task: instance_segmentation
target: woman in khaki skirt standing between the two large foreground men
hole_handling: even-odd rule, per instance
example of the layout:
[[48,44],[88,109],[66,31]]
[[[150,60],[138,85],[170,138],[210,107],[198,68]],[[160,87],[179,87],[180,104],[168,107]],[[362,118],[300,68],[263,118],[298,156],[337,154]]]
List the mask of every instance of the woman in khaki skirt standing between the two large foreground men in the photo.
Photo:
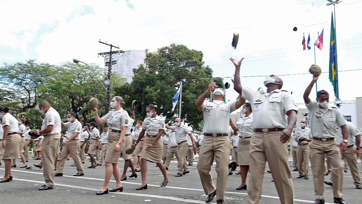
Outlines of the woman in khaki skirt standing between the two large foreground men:
[[247,189],[247,174],[249,170],[249,150],[250,139],[253,136],[253,114],[250,103],[244,103],[241,113],[245,114],[244,117],[236,123],[230,123],[234,131],[239,131],[239,143],[237,144],[237,163],[240,165],[241,171],[241,185],[236,190]]

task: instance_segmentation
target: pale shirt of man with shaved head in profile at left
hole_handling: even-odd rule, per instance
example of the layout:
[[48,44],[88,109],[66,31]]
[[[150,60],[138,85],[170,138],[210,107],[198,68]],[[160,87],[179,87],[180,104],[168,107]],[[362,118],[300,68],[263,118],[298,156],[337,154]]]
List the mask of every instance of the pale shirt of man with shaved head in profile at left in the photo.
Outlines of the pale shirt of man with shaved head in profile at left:
[[[41,130],[44,130],[46,127],[50,125],[53,126],[53,130],[47,133],[46,135],[54,135],[54,134],[58,135],[58,133],[62,131],[62,122],[60,121],[59,113],[52,107],[50,107],[44,115],[44,120],[42,122]],[[55,136],[54,139],[59,139],[59,135]]]

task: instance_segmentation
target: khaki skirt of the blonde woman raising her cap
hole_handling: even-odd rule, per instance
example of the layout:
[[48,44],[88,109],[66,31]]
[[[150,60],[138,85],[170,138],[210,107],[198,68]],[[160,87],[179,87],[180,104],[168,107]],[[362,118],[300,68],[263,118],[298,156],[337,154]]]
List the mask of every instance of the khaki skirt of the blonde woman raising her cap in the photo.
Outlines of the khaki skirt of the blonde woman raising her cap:
[[114,152],[113,148],[118,143],[119,140],[119,133],[118,132],[109,132],[108,133],[108,142],[107,142],[107,154],[106,158],[104,159],[106,162],[118,164],[119,155],[123,151],[126,146],[126,136],[122,140],[122,144],[119,147],[117,152]]

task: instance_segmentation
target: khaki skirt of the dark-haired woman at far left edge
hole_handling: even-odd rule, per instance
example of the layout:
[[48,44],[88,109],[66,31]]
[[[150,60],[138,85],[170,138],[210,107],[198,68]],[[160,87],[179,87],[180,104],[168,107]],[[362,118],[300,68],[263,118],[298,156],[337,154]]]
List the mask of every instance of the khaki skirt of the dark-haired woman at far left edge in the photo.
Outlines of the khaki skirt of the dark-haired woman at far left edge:
[[3,159],[20,159],[20,152],[19,152],[20,143],[21,143],[20,135],[13,134],[6,136],[6,149],[4,149],[3,152]]

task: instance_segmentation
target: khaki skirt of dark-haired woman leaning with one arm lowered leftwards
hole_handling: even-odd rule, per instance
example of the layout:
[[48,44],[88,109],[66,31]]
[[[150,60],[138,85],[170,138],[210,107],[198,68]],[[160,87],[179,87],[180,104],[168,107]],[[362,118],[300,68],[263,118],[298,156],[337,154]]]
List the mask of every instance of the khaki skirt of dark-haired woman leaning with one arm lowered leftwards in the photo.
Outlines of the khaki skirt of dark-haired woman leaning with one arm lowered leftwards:
[[144,144],[142,149],[141,158],[146,159],[147,161],[150,162],[161,163],[162,152],[163,152],[163,141],[161,137],[155,142],[155,144],[153,144],[150,151],[146,151],[147,147],[151,144],[151,142],[154,139],[155,138],[147,137],[146,143]]

